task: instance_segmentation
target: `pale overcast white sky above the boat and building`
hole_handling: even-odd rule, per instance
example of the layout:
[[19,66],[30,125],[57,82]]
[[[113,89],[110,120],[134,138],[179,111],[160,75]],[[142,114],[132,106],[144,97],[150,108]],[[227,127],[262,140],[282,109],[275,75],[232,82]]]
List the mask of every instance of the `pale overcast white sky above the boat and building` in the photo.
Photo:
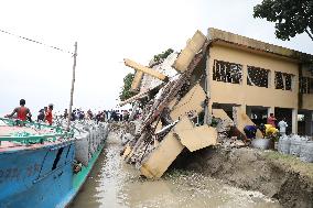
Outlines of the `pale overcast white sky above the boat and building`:
[[[313,54],[306,34],[274,36],[274,24],[253,19],[261,0],[10,0],[0,2],[0,30],[64,51],[78,43],[74,108],[112,109],[131,58],[148,65],[154,54],[182,50],[196,30],[216,28]],[[0,33],[0,117],[24,98],[33,113],[54,103],[68,108],[72,54]]]

